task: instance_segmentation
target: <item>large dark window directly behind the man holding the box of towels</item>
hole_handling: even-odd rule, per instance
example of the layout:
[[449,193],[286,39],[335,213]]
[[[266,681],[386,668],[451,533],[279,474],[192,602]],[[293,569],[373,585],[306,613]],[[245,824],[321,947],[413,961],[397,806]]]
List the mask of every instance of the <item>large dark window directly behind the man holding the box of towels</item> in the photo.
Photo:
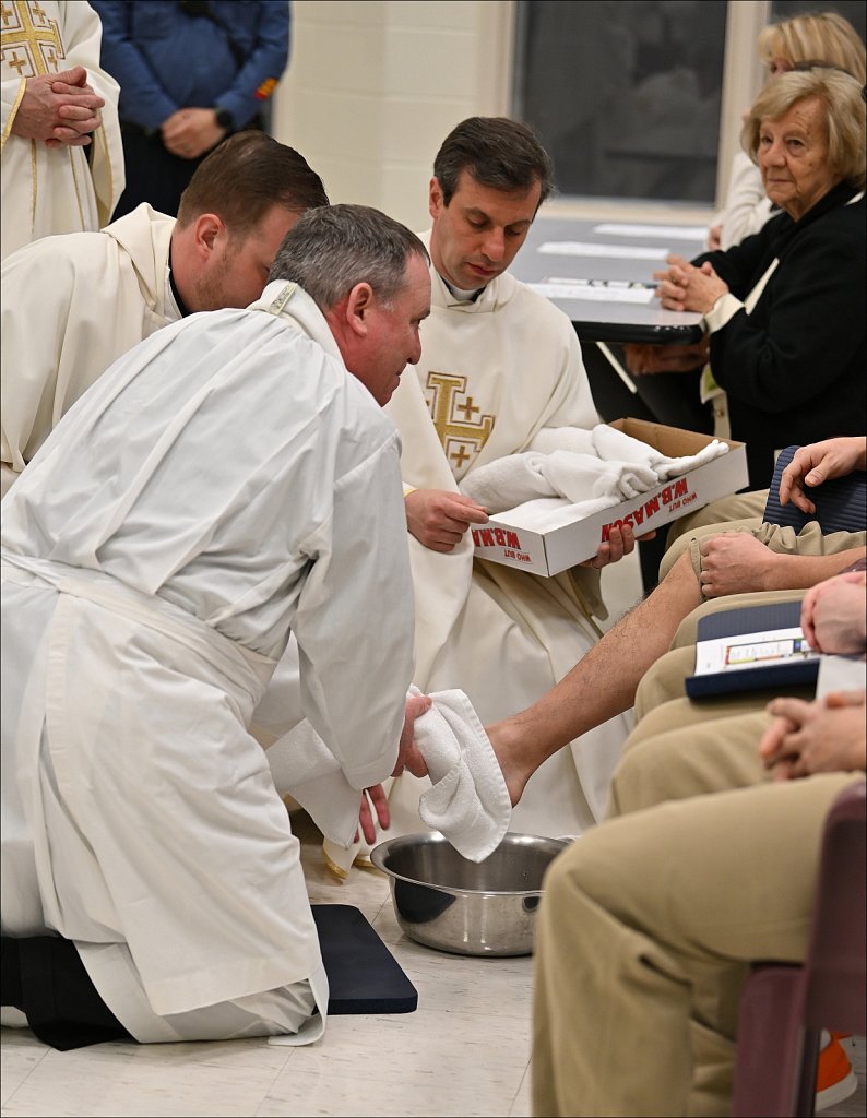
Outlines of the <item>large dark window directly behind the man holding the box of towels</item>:
[[524,0],[513,112],[562,195],[711,205],[725,0]]

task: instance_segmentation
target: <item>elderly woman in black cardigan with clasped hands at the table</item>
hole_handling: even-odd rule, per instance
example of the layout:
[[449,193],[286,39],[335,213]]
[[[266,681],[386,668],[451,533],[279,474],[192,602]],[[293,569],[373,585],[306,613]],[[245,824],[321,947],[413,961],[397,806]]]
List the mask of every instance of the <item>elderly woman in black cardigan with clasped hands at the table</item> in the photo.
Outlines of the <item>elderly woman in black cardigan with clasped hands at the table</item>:
[[774,452],[865,430],[865,100],[848,74],[784,74],[756,98],[743,145],[783,212],[727,252],[658,272],[665,307],[704,315],[706,395],[723,389],[752,487]]

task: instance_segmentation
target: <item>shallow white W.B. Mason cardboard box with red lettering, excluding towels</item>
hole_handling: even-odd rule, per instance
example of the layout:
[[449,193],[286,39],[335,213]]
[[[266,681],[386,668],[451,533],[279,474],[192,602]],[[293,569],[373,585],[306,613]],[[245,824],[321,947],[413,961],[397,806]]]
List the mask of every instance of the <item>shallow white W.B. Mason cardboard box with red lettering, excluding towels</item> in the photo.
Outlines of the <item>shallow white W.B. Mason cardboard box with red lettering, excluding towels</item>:
[[[647,423],[643,419],[618,419],[610,425],[633,438],[648,443],[668,457],[697,454],[710,435],[699,435],[678,427]],[[657,489],[623,501],[593,517],[563,524],[548,532],[533,532],[509,524],[507,514],[491,517],[487,524],[472,529],[475,555],[492,562],[503,562],[535,575],[557,575],[595,556],[613,524],[632,525],[637,536],[659,531],[672,520],[704,508],[717,498],[728,496],[747,484],[746,448],[743,443],[725,439],[731,447],[713,462],[673,477]]]

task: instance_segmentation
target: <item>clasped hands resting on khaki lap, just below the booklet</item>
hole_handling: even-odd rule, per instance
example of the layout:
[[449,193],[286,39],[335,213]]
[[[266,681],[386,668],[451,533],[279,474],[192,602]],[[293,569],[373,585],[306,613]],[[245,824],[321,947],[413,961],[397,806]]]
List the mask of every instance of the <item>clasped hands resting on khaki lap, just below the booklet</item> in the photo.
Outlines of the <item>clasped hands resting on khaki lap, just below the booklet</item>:
[[767,711],[776,721],[758,745],[765,767],[778,780],[864,769],[864,691],[838,691],[814,702],[774,699]]

